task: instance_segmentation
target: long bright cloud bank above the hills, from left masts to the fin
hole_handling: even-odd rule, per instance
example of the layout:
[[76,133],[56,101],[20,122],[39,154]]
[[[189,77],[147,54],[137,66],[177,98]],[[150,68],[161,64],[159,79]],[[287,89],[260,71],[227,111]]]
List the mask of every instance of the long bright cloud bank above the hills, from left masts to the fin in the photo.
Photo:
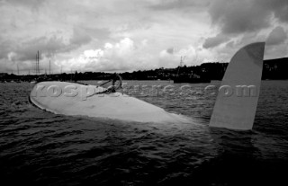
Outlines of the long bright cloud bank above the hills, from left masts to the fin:
[[130,38],[124,38],[116,43],[105,43],[99,49],[86,49],[76,58],[64,58],[57,60],[58,68],[63,71],[110,71],[124,72],[131,70],[152,69],[157,67],[176,67],[180,64],[180,58],[185,57],[184,65],[200,65],[204,60],[211,61],[211,55],[207,49],[196,48],[192,45],[181,49],[168,48],[157,54],[148,52],[148,41],[138,42]]

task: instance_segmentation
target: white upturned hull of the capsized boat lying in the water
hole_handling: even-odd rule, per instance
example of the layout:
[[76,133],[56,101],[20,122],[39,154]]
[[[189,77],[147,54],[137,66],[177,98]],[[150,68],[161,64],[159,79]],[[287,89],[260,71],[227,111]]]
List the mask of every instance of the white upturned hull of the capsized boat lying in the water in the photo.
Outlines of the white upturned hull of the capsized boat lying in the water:
[[30,94],[42,110],[71,116],[88,116],[138,122],[191,122],[184,116],[122,93],[102,93],[103,87],[67,82],[41,82]]

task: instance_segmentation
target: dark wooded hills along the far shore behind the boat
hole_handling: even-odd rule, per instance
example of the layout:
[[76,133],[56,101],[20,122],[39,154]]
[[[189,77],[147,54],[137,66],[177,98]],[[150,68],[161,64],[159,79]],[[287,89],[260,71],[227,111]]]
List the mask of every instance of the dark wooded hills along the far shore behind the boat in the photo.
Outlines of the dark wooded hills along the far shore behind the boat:
[[[177,75],[198,75],[211,80],[221,80],[228,63],[203,63],[200,66],[178,66],[175,68],[157,68],[120,73],[124,80],[173,80]],[[288,79],[288,58],[277,58],[264,61],[262,79]],[[4,81],[78,81],[78,80],[108,80],[112,73],[85,72],[62,73],[52,75],[14,75],[1,73],[0,80]]]

